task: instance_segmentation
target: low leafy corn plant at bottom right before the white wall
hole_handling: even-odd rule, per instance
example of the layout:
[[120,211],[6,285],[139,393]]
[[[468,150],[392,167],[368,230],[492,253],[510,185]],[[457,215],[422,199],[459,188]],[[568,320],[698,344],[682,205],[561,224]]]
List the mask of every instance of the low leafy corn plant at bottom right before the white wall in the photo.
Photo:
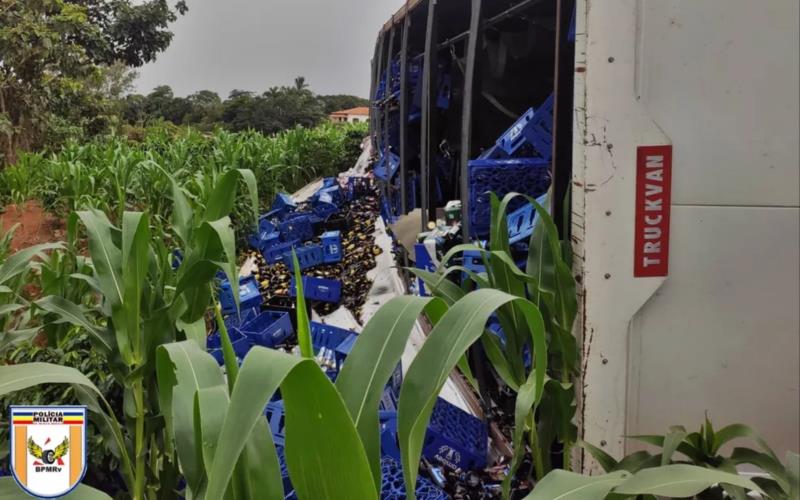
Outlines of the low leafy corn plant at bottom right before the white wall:
[[[796,453],[789,453],[786,463],[781,463],[767,442],[747,425],[731,424],[715,431],[711,421],[706,418],[698,432],[687,432],[683,426],[672,426],[664,435],[630,436],[630,438],[656,446],[661,452],[653,455],[645,450],[637,451],[617,461],[589,443],[582,445],[607,473],[616,471],[636,473],[653,467],[688,464],[736,474],[737,467],[748,465],[758,467],[763,474],[762,477],[754,477],[753,482],[761,487],[764,497],[772,500],[789,500],[800,495],[800,483],[798,483],[800,457]],[[742,439],[754,441],[759,449],[738,446],[733,448],[729,456],[720,453],[723,446]],[[700,494],[703,498],[722,498],[723,492],[735,500],[747,498],[741,485],[724,481],[709,485],[695,494]]]

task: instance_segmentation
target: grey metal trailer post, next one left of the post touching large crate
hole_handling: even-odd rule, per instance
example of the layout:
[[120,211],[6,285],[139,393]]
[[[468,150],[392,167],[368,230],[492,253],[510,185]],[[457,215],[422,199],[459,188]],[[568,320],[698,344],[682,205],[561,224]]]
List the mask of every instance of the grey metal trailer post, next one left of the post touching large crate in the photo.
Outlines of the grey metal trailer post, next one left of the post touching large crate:
[[[422,71],[422,140],[420,170],[421,170],[421,191],[422,191],[422,231],[427,229],[428,220],[431,218],[431,171],[432,160],[435,161],[435,148],[431,146],[433,132],[435,130],[436,114],[436,84],[438,80],[438,44],[437,19],[436,19],[437,0],[428,0],[428,19],[425,28],[425,64]],[[433,214],[435,217],[436,214]]]

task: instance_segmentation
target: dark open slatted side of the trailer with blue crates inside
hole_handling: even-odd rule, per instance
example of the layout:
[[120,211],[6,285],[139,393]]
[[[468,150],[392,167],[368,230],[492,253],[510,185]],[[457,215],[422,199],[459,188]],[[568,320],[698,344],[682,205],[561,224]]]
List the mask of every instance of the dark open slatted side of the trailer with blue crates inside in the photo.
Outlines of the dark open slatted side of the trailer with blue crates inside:
[[461,200],[464,238],[484,239],[485,191],[539,196],[552,183],[550,208],[563,219],[574,5],[409,0],[383,26],[371,134],[385,216],[421,209],[424,230],[437,209]]

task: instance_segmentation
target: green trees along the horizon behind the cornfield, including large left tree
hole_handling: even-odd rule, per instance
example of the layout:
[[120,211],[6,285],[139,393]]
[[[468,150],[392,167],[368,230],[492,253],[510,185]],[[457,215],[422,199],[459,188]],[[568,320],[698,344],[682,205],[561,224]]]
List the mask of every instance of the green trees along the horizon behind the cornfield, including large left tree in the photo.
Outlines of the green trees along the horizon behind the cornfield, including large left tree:
[[263,93],[209,90],[177,97],[168,86],[132,94],[135,69],[170,44],[184,0],[0,0],[0,167],[20,151],[55,149],[154,121],[274,133],[365,105],[317,96],[305,79]]

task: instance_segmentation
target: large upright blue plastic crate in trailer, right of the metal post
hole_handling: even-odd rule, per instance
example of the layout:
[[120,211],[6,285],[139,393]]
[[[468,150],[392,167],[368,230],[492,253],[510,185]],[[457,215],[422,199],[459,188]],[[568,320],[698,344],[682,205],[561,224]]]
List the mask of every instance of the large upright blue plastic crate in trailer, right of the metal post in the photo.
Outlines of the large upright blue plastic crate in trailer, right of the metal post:
[[[494,192],[501,199],[512,192],[538,197],[550,187],[550,164],[541,158],[472,160],[468,169],[470,227],[477,237],[489,234],[489,192]],[[523,198],[514,200],[509,210],[516,210],[525,203]]]

